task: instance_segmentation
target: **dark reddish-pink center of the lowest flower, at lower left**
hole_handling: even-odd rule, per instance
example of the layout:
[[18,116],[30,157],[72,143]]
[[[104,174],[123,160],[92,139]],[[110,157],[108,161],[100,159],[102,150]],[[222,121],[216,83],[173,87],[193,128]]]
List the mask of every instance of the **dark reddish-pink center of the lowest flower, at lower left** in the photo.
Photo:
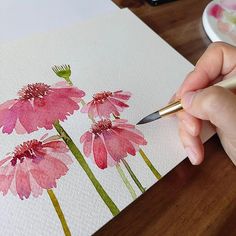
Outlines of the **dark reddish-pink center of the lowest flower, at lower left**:
[[11,160],[12,166],[15,166],[18,160],[20,161],[20,163],[22,163],[25,158],[35,159],[36,158],[35,151],[41,145],[42,145],[42,142],[36,139],[33,139],[17,146],[15,148],[14,155]]

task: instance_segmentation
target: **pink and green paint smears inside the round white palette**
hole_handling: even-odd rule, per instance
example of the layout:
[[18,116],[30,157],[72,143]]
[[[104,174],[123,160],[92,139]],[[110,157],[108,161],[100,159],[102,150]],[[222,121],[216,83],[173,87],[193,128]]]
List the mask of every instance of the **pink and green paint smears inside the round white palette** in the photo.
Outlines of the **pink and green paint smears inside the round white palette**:
[[236,2],[235,0],[220,0],[213,3],[208,15],[216,20],[217,28],[236,43]]

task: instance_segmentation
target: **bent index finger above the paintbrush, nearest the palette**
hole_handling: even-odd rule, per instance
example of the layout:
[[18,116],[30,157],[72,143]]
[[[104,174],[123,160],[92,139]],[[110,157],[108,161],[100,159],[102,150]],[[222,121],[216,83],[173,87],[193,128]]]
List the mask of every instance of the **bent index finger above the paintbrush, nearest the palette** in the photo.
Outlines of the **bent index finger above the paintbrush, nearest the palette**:
[[236,48],[226,43],[212,43],[202,55],[178,92],[177,98],[188,91],[203,89],[212,81],[236,72]]

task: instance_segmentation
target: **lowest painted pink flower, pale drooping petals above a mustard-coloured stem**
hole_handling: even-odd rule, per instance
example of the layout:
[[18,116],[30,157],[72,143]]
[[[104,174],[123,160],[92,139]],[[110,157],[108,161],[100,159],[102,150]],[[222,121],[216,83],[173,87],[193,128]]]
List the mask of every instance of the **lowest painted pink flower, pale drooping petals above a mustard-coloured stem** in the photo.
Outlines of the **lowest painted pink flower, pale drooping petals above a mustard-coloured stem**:
[[17,146],[0,161],[0,192],[10,190],[20,199],[30,194],[38,197],[43,189],[56,187],[56,180],[65,175],[72,163],[62,141],[31,140]]

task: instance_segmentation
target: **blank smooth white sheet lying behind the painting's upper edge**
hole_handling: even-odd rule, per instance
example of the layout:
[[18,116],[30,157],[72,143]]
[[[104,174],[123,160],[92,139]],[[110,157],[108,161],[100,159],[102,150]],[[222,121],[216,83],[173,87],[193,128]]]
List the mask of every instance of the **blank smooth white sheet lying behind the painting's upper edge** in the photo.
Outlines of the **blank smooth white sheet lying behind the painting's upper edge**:
[[0,43],[118,11],[111,0],[0,0]]

